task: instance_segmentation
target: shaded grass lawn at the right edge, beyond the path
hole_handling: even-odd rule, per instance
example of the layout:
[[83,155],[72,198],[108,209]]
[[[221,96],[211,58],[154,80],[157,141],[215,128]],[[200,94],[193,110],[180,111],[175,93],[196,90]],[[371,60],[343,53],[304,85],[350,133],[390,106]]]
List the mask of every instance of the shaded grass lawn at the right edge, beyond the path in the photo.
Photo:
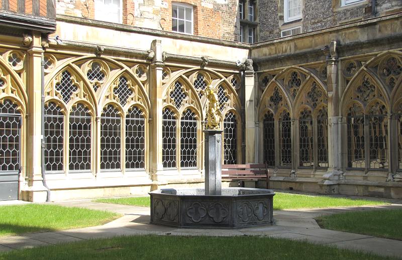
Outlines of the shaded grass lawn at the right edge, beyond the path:
[[402,240],[402,209],[353,211],[316,218],[323,228]]

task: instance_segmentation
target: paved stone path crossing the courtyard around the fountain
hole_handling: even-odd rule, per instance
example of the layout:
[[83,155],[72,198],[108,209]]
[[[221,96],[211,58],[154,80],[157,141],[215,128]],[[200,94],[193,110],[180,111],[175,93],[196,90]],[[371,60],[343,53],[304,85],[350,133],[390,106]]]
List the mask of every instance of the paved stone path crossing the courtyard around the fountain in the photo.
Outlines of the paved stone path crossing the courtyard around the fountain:
[[0,237],[0,251],[135,234],[208,236],[264,235],[295,240],[308,240],[309,242],[318,244],[334,244],[343,248],[360,249],[380,255],[402,257],[402,241],[322,229],[314,220],[314,217],[320,215],[350,210],[402,208],[400,204],[332,209],[280,210],[274,211],[276,225],[243,229],[190,229],[151,225],[149,224],[150,216],[149,208],[147,207],[95,203],[86,200],[58,202],[56,204],[109,210],[124,214],[124,216],[102,226]]

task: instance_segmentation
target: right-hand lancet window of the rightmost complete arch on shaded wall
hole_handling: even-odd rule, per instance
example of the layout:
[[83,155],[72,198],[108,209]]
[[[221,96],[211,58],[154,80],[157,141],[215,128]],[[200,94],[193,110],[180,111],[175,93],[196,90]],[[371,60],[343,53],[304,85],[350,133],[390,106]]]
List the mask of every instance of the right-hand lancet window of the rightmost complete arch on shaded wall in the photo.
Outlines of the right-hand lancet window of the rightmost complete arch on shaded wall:
[[368,115],[371,169],[388,169],[388,117],[385,105],[375,104]]

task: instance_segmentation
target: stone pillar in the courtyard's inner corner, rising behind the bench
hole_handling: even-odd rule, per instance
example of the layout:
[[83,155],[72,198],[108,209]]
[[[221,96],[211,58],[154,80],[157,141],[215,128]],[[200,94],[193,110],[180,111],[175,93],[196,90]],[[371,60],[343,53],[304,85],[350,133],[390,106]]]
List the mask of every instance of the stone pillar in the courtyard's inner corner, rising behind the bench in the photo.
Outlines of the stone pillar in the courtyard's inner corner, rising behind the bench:
[[256,141],[255,127],[255,91],[254,91],[254,69],[253,60],[247,59],[244,62],[244,120],[245,120],[245,163],[255,163],[258,157],[255,156]]

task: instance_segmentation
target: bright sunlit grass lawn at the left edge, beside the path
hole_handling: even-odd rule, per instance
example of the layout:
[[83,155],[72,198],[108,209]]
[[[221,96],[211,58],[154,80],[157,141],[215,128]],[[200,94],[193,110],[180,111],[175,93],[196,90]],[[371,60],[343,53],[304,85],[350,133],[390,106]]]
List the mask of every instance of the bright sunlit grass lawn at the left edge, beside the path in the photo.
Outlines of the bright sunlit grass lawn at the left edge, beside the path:
[[0,236],[102,225],[113,212],[49,204],[0,206]]

